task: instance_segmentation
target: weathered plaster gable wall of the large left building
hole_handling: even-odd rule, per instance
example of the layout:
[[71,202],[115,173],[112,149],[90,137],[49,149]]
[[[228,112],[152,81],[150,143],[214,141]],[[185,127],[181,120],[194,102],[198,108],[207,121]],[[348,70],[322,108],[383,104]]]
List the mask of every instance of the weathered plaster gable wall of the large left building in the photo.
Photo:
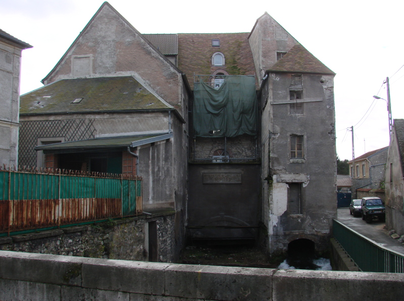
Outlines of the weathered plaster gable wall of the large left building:
[[90,55],[92,70],[85,77],[133,75],[182,113],[181,74],[108,5],[81,34],[44,84],[76,78],[72,57]]

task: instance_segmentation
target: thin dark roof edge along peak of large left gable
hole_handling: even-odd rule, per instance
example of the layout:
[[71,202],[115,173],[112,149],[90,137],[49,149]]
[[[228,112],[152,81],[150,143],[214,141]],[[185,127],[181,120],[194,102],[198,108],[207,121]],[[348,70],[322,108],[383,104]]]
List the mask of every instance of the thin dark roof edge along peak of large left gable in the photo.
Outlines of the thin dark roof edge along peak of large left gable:
[[143,39],[151,48],[153,48],[164,60],[169,63],[173,68],[176,69],[177,72],[181,73],[181,71],[173,64],[170,62],[169,59],[167,59],[160,51],[157,49],[153,43],[149,42],[146,38],[143,37],[143,35],[133,27],[132,24],[130,24],[116,9],[114,9],[108,2],[104,2],[102,6],[97,10],[97,12],[92,16],[91,20],[88,21],[86,26],[83,28],[82,31],[80,31],[80,34],[76,37],[76,39],[73,41],[73,43],[70,45],[70,47],[67,49],[66,53],[62,56],[62,58],[59,60],[59,62],[55,65],[55,67],[49,72],[42,80],[41,82],[44,83],[45,80],[47,80],[58,68],[58,66],[65,60],[66,57],[68,57],[68,54],[70,53],[71,49],[74,47],[76,42],[80,39],[80,37],[86,32],[87,28],[91,25],[91,23],[94,21],[94,19],[98,16],[98,14],[104,9],[104,7],[108,6],[126,25],[128,25],[141,39]]

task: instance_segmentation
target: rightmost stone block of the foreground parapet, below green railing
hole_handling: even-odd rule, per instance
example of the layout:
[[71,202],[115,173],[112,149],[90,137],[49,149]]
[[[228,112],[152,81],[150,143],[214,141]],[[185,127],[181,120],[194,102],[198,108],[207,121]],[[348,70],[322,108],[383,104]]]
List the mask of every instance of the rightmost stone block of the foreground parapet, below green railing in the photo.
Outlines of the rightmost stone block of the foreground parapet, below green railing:
[[278,270],[273,300],[398,300],[404,296],[404,274]]

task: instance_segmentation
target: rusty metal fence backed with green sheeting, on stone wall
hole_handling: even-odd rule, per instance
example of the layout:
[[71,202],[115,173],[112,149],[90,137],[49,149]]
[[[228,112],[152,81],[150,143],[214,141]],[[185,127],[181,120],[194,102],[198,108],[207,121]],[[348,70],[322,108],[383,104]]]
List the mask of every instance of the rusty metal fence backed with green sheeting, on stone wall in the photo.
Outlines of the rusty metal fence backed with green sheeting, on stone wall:
[[134,216],[142,179],[65,170],[0,170],[0,233]]

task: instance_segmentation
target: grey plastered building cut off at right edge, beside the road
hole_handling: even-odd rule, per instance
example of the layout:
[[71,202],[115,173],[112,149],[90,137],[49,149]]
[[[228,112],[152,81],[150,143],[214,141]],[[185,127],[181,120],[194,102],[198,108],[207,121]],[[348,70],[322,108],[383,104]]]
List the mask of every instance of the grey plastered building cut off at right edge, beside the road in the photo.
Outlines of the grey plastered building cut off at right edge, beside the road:
[[394,119],[386,161],[386,227],[404,235],[404,119]]

